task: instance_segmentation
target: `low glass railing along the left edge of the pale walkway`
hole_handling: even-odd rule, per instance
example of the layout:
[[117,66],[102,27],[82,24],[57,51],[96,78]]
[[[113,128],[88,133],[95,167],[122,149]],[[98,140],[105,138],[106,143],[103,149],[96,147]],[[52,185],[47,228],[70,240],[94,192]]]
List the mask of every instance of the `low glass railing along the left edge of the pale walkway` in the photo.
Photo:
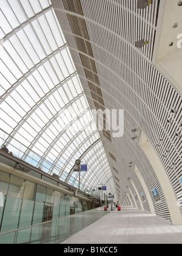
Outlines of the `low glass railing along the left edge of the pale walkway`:
[[0,244],[58,244],[109,213],[111,208],[95,208],[75,215],[43,222],[0,234]]

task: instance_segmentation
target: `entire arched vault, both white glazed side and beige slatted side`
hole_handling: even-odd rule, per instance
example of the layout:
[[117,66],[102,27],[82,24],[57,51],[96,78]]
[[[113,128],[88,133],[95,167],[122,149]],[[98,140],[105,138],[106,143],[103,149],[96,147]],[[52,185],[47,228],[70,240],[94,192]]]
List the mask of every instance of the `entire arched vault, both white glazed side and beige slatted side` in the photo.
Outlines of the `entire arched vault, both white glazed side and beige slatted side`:
[[[1,142],[15,151],[19,141],[24,160],[38,154],[38,166],[59,166],[46,171],[72,185],[81,158],[90,167],[87,187],[107,183],[123,204],[173,221],[172,199],[182,197],[182,50],[174,27],[182,7],[178,0],[137,4],[1,1]],[[117,124],[123,110],[122,135],[113,136],[107,113],[98,131],[92,110],[116,110]]]

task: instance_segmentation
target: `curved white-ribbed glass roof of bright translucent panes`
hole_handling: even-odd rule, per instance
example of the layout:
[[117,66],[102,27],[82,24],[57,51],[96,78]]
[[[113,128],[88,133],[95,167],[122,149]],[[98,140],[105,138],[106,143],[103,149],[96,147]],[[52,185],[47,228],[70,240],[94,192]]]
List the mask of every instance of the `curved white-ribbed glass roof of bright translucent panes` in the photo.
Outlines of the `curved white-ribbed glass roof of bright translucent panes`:
[[[72,168],[81,158],[88,165],[81,182],[87,187],[107,183],[115,193],[103,144],[51,2],[0,0],[0,7],[0,128],[8,134],[2,143],[19,141],[23,160],[35,152],[56,166],[58,175],[71,173],[67,182],[75,187],[78,173]],[[41,164],[39,160],[37,166]],[[47,172],[52,174],[52,168]]]

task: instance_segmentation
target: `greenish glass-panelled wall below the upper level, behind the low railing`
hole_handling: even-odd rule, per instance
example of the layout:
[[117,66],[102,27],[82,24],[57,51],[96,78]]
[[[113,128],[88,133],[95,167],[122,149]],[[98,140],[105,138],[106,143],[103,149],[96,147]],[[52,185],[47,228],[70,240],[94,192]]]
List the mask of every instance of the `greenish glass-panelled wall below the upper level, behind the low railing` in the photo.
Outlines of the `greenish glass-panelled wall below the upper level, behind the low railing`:
[[0,171],[0,233],[92,209],[92,203]]

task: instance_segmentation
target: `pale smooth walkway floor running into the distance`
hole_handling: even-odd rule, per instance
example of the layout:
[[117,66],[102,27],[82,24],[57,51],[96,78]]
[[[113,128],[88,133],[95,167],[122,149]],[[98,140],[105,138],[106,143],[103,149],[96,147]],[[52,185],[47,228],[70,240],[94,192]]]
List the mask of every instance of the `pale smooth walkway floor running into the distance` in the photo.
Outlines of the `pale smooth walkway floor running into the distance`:
[[133,207],[116,209],[62,244],[182,244],[182,226]]

